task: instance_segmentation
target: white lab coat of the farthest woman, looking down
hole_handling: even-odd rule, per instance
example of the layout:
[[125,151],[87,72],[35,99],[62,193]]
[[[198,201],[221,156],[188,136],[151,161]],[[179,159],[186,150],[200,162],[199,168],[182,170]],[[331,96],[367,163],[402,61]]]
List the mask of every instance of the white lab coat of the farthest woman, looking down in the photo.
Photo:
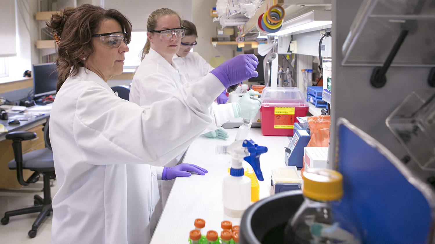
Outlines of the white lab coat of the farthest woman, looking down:
[[189,82],[196,82],[202,79],[202,77],[214,69],[201,55],[195,52],[187,53],[185,57],[179,57],[175,54],[172,62],[177,64],[181,73]]

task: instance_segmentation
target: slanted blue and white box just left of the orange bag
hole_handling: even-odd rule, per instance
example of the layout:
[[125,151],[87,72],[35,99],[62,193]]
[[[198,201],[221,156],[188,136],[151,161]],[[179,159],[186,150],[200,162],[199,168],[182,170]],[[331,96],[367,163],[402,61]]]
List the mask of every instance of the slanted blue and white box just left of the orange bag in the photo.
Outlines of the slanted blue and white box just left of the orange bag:
[[297,130],[285,148],[284,162],[286,165],[302,168],[304,166],[304,148],[310,141],[310,134],[306,130]]

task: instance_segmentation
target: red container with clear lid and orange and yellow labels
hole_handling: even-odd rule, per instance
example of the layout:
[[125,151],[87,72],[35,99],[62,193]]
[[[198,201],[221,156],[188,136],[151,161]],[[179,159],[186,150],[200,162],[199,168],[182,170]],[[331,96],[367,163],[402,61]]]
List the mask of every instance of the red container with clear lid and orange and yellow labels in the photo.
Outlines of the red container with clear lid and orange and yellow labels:
[[261,99],[263,135],[293,135],[295,117],[305,116],[308,112],[308,102],[296,87],[265,87]]

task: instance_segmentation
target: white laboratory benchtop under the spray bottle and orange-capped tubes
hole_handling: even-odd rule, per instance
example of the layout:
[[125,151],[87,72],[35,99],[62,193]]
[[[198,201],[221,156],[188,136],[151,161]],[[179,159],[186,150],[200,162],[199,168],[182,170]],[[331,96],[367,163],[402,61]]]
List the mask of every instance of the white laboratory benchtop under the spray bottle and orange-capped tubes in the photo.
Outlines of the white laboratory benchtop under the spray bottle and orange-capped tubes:
[[[234,142],[238,129],[227,129],[230,138],[227,140],[200,136],[187,149],[184,163],[199,165],[208,170],[204,176],[192,175],[188,178],[175,178],[171,193],[168,196],[160,221],[151,239],[151,244],[185,243],[189,232],[193,230],[194,220],[205,220],[203,234],[214,230],[221,235],[221,221],[229,220],[239,225],[240,218],[224,216],[222,201],[222,182],[231,167],[230,155],[216,155],[216,145],[229,145]],[[288,146],[291,137],[263,136],[261,129],[251,128],[249,138],[261,146],[267,146],[268,152],[260,156],[264,181],[260,185],[260,199],[273,194],[270,172],[273,166],[285,166],[284,147]],[[248,163],[244,165],[248,167]]]

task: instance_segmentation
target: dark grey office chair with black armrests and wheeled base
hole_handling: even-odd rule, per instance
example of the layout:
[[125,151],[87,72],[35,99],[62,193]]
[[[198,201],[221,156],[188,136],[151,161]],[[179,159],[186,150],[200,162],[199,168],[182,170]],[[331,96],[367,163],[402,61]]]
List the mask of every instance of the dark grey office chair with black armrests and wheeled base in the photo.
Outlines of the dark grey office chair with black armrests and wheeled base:
[[[28,233],[30,238],[36,236],[39,226],[53,211],[51,208],[50,179],[56,177],[54,173],[53,152],[51,151],[50,138],[48,135],[48,120],[44,127],[44,141],[46,147],[22,154],[21,142],[31,140],[35,137],[35,132],[26,131],[10,132],[6,135],[6,139],[12,140],[13,154],[15,156],[15,159],[11,160],[7,164],[7,167],[12,170],[17,170],[17,178],[20,185],[35,183],[39,180],[40,174],[42,174],[44,198],[41,198],[39,195],[34,195],[33,207],[7,211],[1,219],[1,224],[5,225],[9,222],[9,217],[11,216],[40,212],[33,222],[32,229]],[[23,169],[34,171],[26,181],[23,179]]]

